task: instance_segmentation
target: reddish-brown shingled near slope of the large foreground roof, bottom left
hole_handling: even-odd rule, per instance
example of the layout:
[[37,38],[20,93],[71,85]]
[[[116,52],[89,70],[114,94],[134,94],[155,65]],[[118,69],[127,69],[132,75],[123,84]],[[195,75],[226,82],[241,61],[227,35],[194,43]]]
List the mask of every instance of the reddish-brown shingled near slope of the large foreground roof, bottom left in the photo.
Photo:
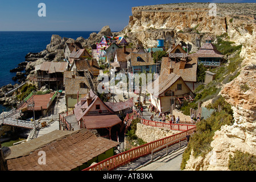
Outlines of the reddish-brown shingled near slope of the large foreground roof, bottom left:
[[[56,131],[52,131],[52,133]],[[29,144],[29,142],[24,144]],[[25,156],[8,159],[7,165],[10,171],[70,171],[118,144],[109,139],[96,137],[86,129],[70,131],[69,134],[53,140]],[[46,164],[38,163],[39,151],[46,152]]]

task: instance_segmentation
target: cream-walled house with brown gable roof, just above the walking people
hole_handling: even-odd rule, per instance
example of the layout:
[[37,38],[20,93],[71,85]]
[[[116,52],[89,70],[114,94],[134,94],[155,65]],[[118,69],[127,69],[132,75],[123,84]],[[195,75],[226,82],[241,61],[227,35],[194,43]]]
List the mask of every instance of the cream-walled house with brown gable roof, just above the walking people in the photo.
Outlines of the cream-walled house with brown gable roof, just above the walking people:
[[185,84],[183,78],[172,72],[171,68],[164,68],[160,76],[153,83],[159,84],[158,92],[151,89],[152,82],[147,85],[147,92],[150,93],[150,109],[153,111],[168,112],[171,105],[180,105],[184,100],[192,101],[195,95],[192,90]]

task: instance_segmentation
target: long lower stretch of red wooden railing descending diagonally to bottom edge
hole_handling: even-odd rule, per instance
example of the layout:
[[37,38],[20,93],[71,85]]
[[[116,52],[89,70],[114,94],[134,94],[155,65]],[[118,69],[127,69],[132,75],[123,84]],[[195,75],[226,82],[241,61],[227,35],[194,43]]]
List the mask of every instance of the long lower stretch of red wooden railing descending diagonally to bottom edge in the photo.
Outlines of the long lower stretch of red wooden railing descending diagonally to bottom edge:
[[[108,159],[102,160],[101,162],[94,164],[93,166],[90,166],[88,168],[85,168],[82,171],[90,171],[90,170],[91,171],[102,171],[105,169],[112,170],[119,166],[123,166],[123,165],[130,163],[131,161],[138,159],[144,155],[151,154],[152,150],[155,150],[156,148],[159,148],[161,146],[164,147],[164,145],[167,143],[170,143],[172,141],[175,141],[175,140],[181,139],[181,138],[182,138],[181,140],[185,140],[185,136],[187,134],[192,134],[194,130],[196,130],[195,126],[187,131],[183,131],[181,133],[171,135],[170,137],[155,140],[153,142],[143,144],[142,146],[132,148],[131,150],[122,152],[122,153],[114,155]],[[176,144],[176,142],[170,144],[170,146],[173,144]]]

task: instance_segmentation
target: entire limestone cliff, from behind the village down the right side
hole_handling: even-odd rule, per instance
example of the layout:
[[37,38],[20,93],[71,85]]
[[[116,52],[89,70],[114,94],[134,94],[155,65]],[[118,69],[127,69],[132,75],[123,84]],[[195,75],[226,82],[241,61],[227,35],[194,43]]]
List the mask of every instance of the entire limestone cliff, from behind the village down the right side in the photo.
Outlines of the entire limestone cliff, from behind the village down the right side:
[[[164,39],[168,48],[176,43],[191,46],[195,38],[227,33],[229,41],[242,44],[243,58],[240,75],[224,85],[221,95],[232,105],[234,125],[216,131],[212,151],[205,158],[187,161],[186,170],[228,170],[229,154],[236,150],[256,155],[256,3],[216,3],[217,16],[210,17],[208,3],[175,3],[168,5],[133,7],[129,24],[119,35],[144,47],[155,47],[157,39]],[[193,152],[193,151],[192,151]]]

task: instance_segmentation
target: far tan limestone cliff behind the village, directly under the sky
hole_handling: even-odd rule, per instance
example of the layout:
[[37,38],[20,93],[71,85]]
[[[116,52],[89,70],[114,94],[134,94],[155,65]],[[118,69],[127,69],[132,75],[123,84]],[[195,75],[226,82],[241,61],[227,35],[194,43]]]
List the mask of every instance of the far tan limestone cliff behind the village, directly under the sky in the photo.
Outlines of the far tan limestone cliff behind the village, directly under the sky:
[[191,52],[196,51],[196,37],[200,37],[204,43],[208,35],[214,38],[228,32],[235,40],[243,43],[244,38],[237,38],[252,33],[254,9],[255,3],[216,3],[217,15],[209,16],[212,10],[209,3],[133,7],[129,24],[118,35],[126,35],[131,42],[144,47],[155,47],[157,39],[164,39],[167,48],[172,45],[172,41],[182,41],[191,47]]

